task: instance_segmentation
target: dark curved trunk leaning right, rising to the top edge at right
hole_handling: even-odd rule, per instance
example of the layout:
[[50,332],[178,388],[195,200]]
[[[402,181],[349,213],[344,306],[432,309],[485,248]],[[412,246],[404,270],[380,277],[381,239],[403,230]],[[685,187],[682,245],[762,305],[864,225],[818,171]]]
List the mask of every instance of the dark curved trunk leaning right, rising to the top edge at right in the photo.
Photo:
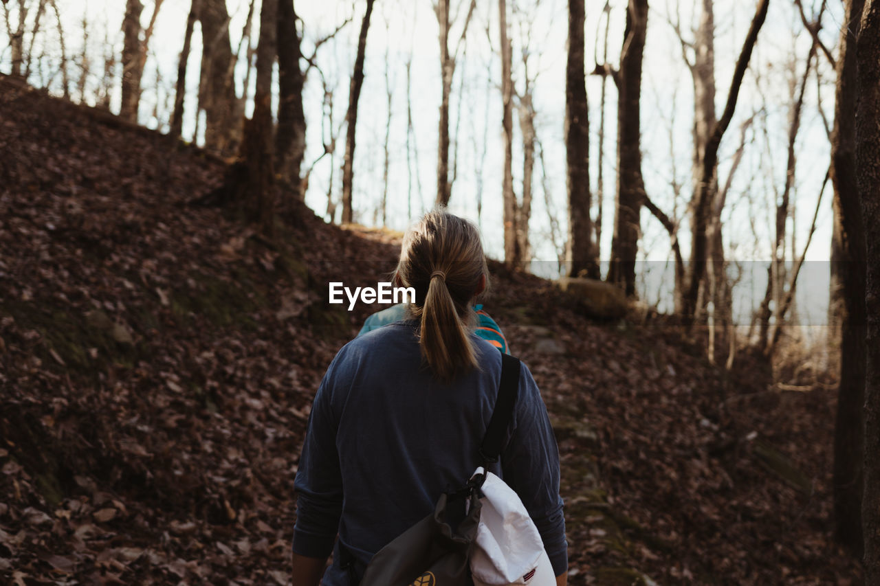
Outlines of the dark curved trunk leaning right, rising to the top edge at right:
[[743,49],[737,59],[737,66],[733,72],[733,80],[730,83],[730,92],[728,92],[727,103],[724,106],[724,112],[721,120],[715,123],[712,135],[706,143],[706,149],[703,155],[702,176],[698,184],[700,189],[694,201],[693,215],[696,222],[693,227],[693,245],[691,246],[691,275],[687,283],[684,298],[682,300],[682,314],[686,326],[693,323],[694,313],[697,307],[697,297],[700,292],[700,282],[706,271],[707,257],[707,217],[706,207],[710,201],[709,197],[712,193],[712,185],[715,178],[715,169],[718,163],[718,147],[721,144],[722,136],[730,126],[730,120],[733,118],[734,110],[737,107],[737,98],[739,97],[739,88],[743,84],[745,69],[749,65],[752,58],[752,49],[758,40],[758,33],[761,26],[764,26],[766,20],[767,8],[769,0],[760,0],[752,25],[749,32],[745,35]]

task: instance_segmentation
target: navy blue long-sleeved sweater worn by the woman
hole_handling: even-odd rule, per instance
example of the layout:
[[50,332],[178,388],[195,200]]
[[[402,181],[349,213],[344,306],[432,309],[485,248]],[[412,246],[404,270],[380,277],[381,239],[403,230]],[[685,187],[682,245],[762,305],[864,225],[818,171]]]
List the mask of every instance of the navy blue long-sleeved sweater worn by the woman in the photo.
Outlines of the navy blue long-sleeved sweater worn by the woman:
[[[498,394],[501,353],[472,339],[480,370],[448,385],[422,366],[414,321],[366,333],[339,351],[315,395],[299,460],[295,553],[326,557],[338,533],[366,564],[481,464],[478,450]],[[568,550],[559,451],[524,364],[501,462],[492,472],[519,494],[561,575]],[[346,586],[338,548],[334,553],[322,583]]]

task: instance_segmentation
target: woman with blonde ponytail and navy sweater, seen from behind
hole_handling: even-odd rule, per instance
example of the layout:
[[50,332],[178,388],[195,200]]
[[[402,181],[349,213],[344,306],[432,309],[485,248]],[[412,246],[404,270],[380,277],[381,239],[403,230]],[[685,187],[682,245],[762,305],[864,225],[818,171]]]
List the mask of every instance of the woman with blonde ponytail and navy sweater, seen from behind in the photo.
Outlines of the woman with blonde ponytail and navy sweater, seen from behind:
[[[325,586],[348,586],[342,556],[363,575],[374,553],[481,463],[502,356],[472,331],[473,301],[488,284],[476,227],[430,212],[404,237],[394,280],[415,289],[412,319],[348,342],[315,394],[294,483],[295,586],[316,586],[322,575]],[[508,435],[491,472],[522,499],[565,584],[559,452],[525,365]]]

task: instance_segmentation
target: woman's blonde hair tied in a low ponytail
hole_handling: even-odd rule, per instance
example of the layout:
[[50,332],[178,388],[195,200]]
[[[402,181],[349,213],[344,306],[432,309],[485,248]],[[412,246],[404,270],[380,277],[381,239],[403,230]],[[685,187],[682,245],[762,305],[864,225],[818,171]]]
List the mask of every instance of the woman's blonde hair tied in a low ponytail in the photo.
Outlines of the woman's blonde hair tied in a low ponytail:
[[429,212],[403,238],[395,276],[415,289],[410,312],[420,321],[422,357],[444,382],[477,366],[469,311],[488,267],[480,231],[444,209]]

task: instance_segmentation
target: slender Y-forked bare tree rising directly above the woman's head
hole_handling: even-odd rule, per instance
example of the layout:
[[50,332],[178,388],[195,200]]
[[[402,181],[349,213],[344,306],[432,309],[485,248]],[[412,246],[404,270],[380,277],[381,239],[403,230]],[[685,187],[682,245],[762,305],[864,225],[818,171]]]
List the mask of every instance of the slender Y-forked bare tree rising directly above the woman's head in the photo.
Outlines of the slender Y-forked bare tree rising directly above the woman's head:
[[455,46],[455,52],[450,54],[449,33],[454,19],[450,16],[451,0],[437,0],[434,4],[437,24],[440,26],[440,77],[442,82],[440,98],[440,124],[439,141],[437,143],[437,195],[436,201],[440,205],[448,205],[451,195],[452,181],[449,177],[449,96],[452,91],[452,77],[455,76],[455,66],[462,43],[467,35],[467,28],[471,23],[473,11],[477,7],[476,0],[471,0],[467,9],[465,23],[461,29],[461,35]]

